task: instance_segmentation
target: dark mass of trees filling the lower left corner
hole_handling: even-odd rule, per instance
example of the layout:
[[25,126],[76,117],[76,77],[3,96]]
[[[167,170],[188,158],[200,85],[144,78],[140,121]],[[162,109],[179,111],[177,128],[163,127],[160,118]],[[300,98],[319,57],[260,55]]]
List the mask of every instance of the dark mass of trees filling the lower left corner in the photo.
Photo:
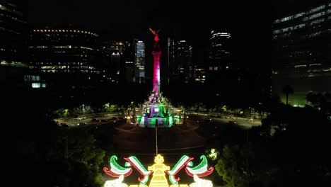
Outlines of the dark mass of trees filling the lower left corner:
[[112,150],[112,126],[60,128],[53,120],[56,102],[46,90],[4,91],[5,181],[13,186],[102,186],[100,171],[107,164],[105,152]]

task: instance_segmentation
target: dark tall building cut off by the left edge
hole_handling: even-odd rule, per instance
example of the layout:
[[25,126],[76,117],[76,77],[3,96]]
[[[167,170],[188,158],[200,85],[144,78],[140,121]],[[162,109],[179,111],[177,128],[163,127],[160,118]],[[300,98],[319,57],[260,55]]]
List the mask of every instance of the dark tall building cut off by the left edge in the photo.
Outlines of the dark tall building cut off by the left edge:
[[23,81],[28,69],[26,2],[0,1],[0,80]]

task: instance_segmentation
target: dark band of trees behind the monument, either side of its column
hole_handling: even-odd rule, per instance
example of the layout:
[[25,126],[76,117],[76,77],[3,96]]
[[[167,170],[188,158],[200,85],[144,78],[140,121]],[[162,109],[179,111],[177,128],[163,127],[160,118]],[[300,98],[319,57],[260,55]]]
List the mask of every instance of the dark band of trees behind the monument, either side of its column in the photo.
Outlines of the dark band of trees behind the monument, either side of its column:
[[[98,83],[86,85],[62,84],[50,85],[45,89],[6,88],[6,93],[12,98],[21,99],[26,96],[42,101],[47,108],[73,108],[81,104],[100,107],[105,103],[118,106],[128,106],[129,103],[143,103],[152,91],[152,84],[109,84]],[[161,84],[163,96],[175,106],[192,106],[204,103],[207,108],[218,105],[228,105],[233,108],[255,106],[266,102],[269,95],[257,86],[238,86],[226,83],[214,85],[199,84]],[[8,101],[7,101],[8,102]],[[24,101],[25,102],[25,101]],[[33,106],[31,106],[33,107]]]

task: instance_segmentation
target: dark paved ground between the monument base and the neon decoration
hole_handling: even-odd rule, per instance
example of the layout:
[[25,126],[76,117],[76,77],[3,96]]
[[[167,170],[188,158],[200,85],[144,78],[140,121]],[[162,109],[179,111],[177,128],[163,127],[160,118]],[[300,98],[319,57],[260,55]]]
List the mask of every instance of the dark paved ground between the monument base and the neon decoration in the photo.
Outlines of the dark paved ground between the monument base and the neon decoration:
[[[182,129],[175,125],[173,128],[158,128],[158,149],[160,151],[194,149],[203,147],[205,140],[194,132],[195,128]],[[199,125],[197,125],[199,126]],[[129,149],[139,152],[155,152],[156,129],[137,128],[135,125],[117,125],[118,130],[114,135],[114,142],[121,149]]]

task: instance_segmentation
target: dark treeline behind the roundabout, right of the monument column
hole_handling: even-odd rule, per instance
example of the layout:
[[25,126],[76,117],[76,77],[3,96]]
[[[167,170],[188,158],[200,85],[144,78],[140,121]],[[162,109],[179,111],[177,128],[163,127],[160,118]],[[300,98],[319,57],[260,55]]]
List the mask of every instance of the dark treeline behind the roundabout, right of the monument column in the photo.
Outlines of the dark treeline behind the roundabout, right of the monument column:
[[219,83],[216,85],[167,84],[162,85],[163,94],[175,105],[192,106],[204,103],[207,108],[228,105],[233,108],[246,108],[266,102],[269,96],[262,94],[258,87],[238,86]]

